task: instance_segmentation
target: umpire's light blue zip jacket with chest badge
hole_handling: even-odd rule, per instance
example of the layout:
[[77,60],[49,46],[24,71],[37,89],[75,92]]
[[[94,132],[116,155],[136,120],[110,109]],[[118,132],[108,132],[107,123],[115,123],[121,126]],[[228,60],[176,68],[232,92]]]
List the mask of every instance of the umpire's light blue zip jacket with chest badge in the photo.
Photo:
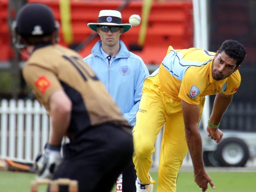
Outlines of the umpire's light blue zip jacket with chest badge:
[[120,51],[110,64],[101,52],[101,41],[92,48],[92,54],[83,59],[103,82],[123,116],[134,126],[144,79],[149,75],[142,58],[129,52],[120,41]]

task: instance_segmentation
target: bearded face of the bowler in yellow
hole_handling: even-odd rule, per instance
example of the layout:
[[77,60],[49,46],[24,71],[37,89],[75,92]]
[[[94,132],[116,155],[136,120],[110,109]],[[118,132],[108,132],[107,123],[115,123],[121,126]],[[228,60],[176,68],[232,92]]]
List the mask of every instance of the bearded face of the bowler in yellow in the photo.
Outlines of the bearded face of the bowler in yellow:
[[215,80],[222,80],[230,76],[233,72],[239,69],[240,65],[236,67],[237,60],[230,58],[225,51],[219,53],[218,51],[213,58],[211,67],[211,75]]

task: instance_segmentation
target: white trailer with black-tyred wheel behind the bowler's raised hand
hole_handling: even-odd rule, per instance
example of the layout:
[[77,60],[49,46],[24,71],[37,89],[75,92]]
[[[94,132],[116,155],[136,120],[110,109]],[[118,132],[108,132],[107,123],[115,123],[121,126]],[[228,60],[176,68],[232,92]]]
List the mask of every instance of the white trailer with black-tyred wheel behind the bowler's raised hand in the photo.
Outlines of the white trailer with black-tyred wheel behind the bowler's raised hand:
[[256,157],[256,133],[223,131],[219,144],[202,130],[203,160],[205,166],[243,167]]

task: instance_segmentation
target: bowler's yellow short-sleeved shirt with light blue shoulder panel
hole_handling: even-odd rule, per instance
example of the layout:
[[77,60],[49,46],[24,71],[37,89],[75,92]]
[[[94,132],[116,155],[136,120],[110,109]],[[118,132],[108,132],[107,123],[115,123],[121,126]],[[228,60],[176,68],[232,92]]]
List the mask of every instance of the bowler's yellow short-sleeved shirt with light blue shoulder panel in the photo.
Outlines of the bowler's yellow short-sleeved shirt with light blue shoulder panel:
[[159,67],[159,79],[164,91],[174,100],[200,104],[200,97],[224,93],[234,94],[239,88],[239,71],[228,78],[215,80],[211,67],[215,52],[198,48],[173,50],[170,46]]

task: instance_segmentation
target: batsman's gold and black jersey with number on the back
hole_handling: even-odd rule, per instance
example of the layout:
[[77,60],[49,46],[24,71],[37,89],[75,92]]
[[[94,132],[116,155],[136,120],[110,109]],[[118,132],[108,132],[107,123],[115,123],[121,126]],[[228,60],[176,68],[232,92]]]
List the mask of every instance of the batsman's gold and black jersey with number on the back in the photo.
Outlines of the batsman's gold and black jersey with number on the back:
[[64,90],[72,102],[68,132],[78,133],[102,123],[130,126],[104,85],[80,56],[60,45],[36,47],[23,68],[23,76],[49,112],[49,98]]

